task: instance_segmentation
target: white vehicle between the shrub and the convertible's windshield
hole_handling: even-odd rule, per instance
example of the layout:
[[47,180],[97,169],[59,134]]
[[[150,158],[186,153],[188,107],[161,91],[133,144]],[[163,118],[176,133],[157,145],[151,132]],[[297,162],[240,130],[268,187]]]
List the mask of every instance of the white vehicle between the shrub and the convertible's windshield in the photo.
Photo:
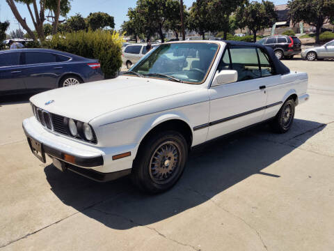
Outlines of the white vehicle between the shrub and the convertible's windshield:
[[[127,45],[122,49],[122,62],[127,66],[127,68],[131,68],[132,65],[136,64],[146,53],[147,44],[132,44]],[[152,49],[157,47],[157,45],[152,44]]]

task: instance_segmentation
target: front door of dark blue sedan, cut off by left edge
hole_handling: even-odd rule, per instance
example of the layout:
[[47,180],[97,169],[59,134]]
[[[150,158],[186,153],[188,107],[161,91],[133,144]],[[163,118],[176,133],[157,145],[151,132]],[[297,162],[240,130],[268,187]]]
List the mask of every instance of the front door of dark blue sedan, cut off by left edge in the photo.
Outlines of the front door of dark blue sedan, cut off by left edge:
[[0,92],[23,92],[24,86],[22,66],[20,65],[21,52],[3,52],[0,54]]

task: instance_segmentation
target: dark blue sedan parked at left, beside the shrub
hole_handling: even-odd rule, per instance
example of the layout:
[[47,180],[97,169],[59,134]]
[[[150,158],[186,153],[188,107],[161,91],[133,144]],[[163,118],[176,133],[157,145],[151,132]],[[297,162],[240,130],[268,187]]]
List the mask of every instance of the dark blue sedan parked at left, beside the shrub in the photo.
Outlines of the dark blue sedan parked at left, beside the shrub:
[[100,63],[49,49],[0,51],[0,96],[104,79]]

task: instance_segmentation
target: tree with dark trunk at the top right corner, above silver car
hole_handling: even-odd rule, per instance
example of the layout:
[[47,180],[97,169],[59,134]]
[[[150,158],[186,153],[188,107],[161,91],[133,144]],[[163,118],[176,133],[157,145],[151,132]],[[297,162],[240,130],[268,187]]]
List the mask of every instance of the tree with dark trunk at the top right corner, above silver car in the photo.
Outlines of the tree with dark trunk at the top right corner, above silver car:
[[315,26],[315,43],[319,44],[321,27],[334,19],[334,0],[289,0],[287,6],[293,22]]

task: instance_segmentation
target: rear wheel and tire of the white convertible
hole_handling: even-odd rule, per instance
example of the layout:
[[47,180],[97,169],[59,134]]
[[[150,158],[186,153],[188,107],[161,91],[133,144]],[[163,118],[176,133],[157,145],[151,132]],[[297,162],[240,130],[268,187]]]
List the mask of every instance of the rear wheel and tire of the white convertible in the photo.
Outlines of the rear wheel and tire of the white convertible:
[[271,128],[278,133],[285,133],[292,127],[296,103],[293,98],[285,101],[275,119],[271,122]]

